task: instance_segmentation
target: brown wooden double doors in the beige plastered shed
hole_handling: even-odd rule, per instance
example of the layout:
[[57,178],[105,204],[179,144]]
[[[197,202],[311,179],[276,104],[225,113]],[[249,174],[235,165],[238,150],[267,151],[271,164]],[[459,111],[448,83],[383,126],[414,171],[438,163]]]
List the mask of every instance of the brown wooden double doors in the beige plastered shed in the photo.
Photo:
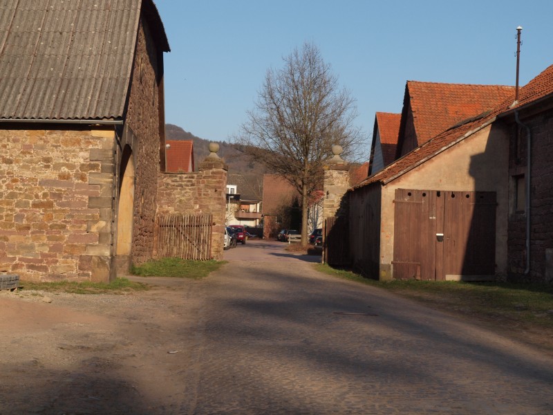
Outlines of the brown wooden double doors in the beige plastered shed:
[[496,193],[395,191],[395,279],[494,275]]

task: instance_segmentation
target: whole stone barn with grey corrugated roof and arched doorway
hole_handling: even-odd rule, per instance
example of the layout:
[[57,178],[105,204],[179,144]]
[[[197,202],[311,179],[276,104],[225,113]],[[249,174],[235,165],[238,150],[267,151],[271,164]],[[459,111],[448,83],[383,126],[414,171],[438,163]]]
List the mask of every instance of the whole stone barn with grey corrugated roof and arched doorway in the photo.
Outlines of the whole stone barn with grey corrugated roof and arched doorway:
[[106,282],[151,258],[165,169],[151,0],[0,6],[0,272]]

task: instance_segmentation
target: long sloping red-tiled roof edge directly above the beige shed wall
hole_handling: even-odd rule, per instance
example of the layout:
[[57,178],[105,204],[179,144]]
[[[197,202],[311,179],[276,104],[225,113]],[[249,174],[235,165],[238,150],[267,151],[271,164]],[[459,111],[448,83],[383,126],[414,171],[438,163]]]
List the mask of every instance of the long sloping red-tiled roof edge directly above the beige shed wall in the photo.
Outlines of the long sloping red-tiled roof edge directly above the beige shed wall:
[[503,102],[500,102],[500,104],[496,105],[491,111],[485,111],[480,114],[480,116],[471,117],[465,120],[465,122],[458,122],[455,126],[446,131],[442,131],[438,136],[424,142],[424,144],[399,160],[396,160],[395,163],[392,163],[350,190],[371,185],[372,183],[386,185],[395,180],[395,178],[402,176],[402,174],[418,167],[426,160],[429,160],[429,158],[433,158],[445,149],[455,145],[457,142],[487,127],[487,125],[494,122],[496,118],[505,116],[507,113],[513,111],[513,109],[525,107],[546,97],[553,97],[553,65],[549,66],[545,71],[520,89],[519,99],[515,104],[513,95],[512,97],[505,98]]

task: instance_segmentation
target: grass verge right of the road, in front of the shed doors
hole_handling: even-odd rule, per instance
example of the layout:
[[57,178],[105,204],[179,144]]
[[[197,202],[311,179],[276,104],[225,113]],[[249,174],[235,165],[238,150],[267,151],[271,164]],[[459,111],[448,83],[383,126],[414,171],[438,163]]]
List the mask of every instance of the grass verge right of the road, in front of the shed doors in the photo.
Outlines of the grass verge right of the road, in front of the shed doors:
[[379,282],[348,270],[316,264],[317,270],[393,291],[447,311],[475,315],[483,320],[553,329],[553,285],[504,282]]

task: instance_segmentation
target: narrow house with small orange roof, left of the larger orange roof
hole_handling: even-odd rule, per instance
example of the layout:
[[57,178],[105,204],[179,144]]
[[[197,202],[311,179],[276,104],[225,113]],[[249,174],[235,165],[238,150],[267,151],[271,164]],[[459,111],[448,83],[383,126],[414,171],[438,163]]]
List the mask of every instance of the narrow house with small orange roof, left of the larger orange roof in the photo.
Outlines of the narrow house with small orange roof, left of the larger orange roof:
[[368,160],[368,176],[379,172],[395,160],[400,135],[401,114],[377,112]]

